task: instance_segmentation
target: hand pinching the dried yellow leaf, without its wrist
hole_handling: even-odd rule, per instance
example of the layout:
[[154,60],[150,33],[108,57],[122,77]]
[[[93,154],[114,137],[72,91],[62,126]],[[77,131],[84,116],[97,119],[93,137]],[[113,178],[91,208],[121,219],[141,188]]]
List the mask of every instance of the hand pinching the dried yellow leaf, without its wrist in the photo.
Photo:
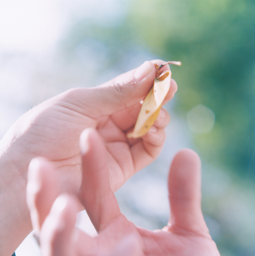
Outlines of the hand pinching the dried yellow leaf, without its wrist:
[[[153,84],[154,62],[162,63],[147,61],[101,86],[71,89],[25,113],[6,136],[7,146],[15,152],[13,163],[19,166],[22,176],[26,176],[33,157],[44,156],[62,173],[63,190],[75,191],[81,182],[79,137],[88,127],[96,128],[106,144],[113,191],[155,160],[164,143],[163,129],[169,122],[166,110],[162,109],[153,129],[143,138],[127,139],[125,135],[135,124],[139,102]],[[172,80],[164,103],[176,90]]]

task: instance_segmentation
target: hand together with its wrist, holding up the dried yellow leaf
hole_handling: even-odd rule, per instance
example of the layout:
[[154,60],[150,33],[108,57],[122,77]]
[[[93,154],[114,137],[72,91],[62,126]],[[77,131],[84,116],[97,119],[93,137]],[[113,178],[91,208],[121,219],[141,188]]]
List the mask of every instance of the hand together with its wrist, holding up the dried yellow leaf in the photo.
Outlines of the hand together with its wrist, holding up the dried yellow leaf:
[[[0,255],[12,255],[32,231],[26,205],[32,158],[50,160],[59,175],[59,191],[69,193],[77,193],[81,186],[79,138],[85,128],[96,129],[103,140],[112,191],[156,159],[170,119],[166,110],[144,137],[126,138],[137,119],[140,101],[153,85],[155,62],[163,63],[148,61],[98,87],[73,88],[57,95],[26,112],[8,130],[0,142]],[[164,103],[176,91],[172,80]]]

